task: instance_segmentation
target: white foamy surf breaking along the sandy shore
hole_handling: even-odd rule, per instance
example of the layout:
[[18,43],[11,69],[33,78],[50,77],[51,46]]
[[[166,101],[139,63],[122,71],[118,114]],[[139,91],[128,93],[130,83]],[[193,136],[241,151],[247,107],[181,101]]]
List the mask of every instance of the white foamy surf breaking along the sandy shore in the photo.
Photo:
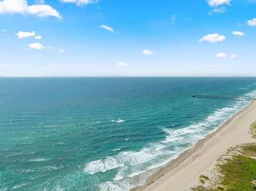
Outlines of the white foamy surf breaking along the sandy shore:
[[[245,96],[255,97],[256,90]],[[183,151],[193,147],[199,139],[216,130],[249,103],[244,100],[235,101],[233,105],[217,109],[204,121],[191,124],[188,127],[179,129],[175,129],[175,126],[172,128],[162,127],[166,133],[166,138],[162,142],[150,144],[138,152],[121,152],[115,156],[106,157],[106,159],[87,163],[84,171],[93,175],[97,172],[103,173],[115,169],[117,173],[113,181],[102,183],[99,186],[100,190],[130,190],[143,184],[155,170],[178,157]]]

